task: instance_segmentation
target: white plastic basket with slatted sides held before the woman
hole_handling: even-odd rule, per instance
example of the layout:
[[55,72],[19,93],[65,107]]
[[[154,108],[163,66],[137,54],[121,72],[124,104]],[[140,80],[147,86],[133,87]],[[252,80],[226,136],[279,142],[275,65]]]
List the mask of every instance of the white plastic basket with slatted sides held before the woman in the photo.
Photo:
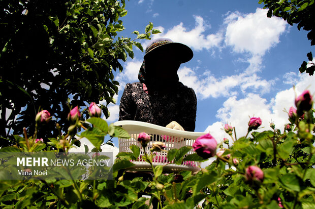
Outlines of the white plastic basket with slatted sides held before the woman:
[[[119,152],[131,152],[130,145],[137,145],[141,147],[140,143],[137,141],[138,135],[141,132],[145,132],[152,136],[151,141],[145,148],[147,154],[150,153],[150,148],[153,142],[161,141],[166,145],[165,150],[176,148],[179,149],[183,146],[193,146],[195,140],[205,135],[203,132],[186,132],[173,130],[166,127],[157,126],[155,124],[135,121],[135,120],[121,120],[114,123],[115,126],[120,126],[130,134],[130,139],[118,138]],[[187,154],[194,153],[193,150],[189,151]],[[144,155],[144,150],[141,147],[140,150],[140,160],[132,161],[135,166],[128,169],[130,171],[150,171],[151,166],[148,162],[141,160]],[[196,161],[183,161],[180,165],[168,164],[167,152],[156,152],[156,156],[153,159],[153,165],[165,165],[163,166],[163,171],[165,172],[179,172],[179,171],[192,171],[197,172],[200,170],[199,162]]]

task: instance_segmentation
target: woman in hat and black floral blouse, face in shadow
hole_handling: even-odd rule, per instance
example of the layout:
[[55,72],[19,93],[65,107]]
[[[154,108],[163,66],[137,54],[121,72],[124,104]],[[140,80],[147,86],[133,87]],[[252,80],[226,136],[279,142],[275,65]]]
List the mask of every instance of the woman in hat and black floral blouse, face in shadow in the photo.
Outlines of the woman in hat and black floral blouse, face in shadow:
[[193,51],[186,45],[168,38],[153,40],[145,50],[138,75],[140,81],[125,86],[119,120],[138,120],[194,131],[196,94],[179,82],[177,75],[180,64],[192,58]]

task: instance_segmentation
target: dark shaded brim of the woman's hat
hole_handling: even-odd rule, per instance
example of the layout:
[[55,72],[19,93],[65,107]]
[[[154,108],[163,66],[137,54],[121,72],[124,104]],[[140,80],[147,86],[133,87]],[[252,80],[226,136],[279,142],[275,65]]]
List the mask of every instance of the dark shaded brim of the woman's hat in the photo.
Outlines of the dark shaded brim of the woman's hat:
[[193,50],[191,48],[184,44],[173,42],[153,48],[144,55],[144,59],[154,58],[154,55],[161,52],[173,56],[174,59],[179,60],[180,63],[188,62],[194,56]]

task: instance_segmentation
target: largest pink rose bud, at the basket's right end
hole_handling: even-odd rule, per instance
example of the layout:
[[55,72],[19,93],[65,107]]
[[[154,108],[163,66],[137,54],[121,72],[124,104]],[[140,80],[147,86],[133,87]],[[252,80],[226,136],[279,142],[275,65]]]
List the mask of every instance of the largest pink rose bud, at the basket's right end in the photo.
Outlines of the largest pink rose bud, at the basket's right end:
[[194,151],[204,159],[215,155],[216,146],[217,142],[210,134],[198,137],[193,144]]

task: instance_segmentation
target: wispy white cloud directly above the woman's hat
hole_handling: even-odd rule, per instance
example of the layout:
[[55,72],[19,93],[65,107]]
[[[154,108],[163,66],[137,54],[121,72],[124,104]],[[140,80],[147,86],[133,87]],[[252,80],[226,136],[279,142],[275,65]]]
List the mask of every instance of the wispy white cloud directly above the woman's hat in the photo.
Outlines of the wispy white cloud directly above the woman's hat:
[[205,24],[203,18],[200,16],[194,16],[194,18],[196,25],[195,28],[191,30],[184,27],[182,22],[169,29],[166,33],[164,33],[165,28],[160,26],[156,28],[160,29],[162,33],[154,34],[153,38],[167,37],[175,42],[190,46],[196,51],[201,51],[203,49],[209,50],[213,47],[219,47],[221,41],[223,40],[223,34],[220,32],[208,35],[203,34],[206,29],[210,28],[210,25]]

